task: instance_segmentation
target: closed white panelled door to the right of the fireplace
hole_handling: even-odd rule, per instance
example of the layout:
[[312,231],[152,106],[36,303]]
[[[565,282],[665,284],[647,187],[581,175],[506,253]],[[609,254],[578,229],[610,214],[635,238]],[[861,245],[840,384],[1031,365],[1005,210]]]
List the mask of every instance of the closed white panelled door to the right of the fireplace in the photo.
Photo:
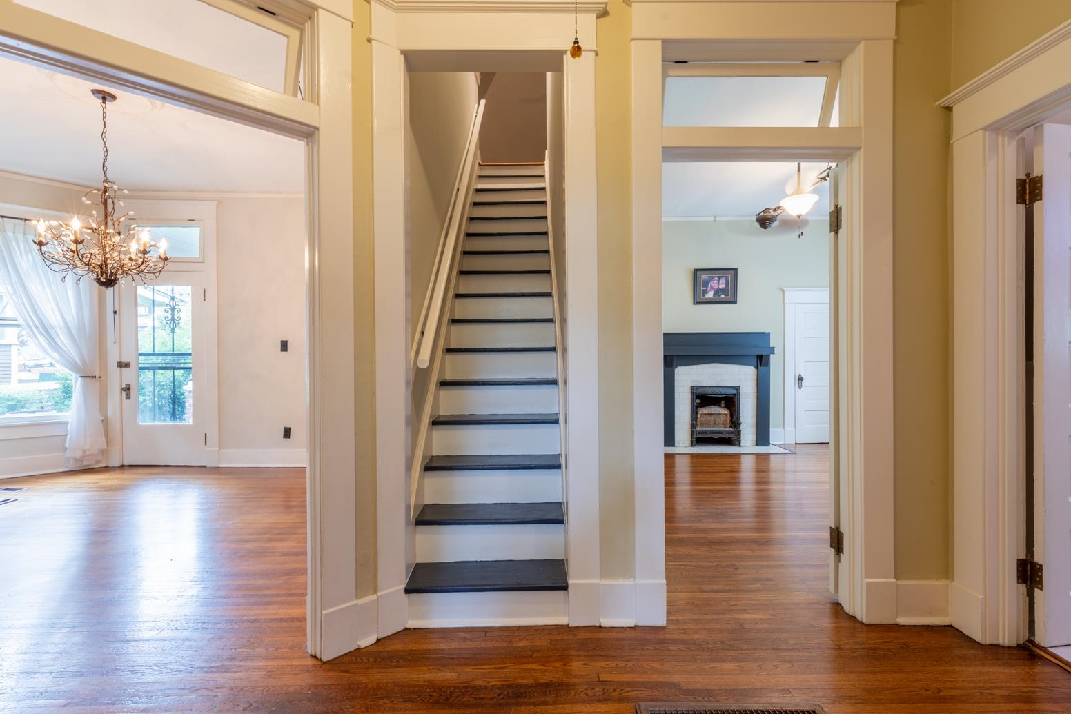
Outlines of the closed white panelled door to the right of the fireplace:
[[829,304],[796,305],[796,443],[829,443]]

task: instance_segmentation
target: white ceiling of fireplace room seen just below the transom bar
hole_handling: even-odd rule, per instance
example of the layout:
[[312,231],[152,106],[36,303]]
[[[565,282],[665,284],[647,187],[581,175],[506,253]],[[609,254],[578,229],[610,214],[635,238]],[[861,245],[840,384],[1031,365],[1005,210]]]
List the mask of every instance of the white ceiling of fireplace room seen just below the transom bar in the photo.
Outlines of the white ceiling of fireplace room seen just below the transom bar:
[[[825,168],[825,164],[803,164],[803,185]],[[796,164],[664,164],[662,214],[666,218],[754,216],[775,207],[795,186]],[[824,216],[829,213],[829,182],[813,191],[819,200],[811,216]]]

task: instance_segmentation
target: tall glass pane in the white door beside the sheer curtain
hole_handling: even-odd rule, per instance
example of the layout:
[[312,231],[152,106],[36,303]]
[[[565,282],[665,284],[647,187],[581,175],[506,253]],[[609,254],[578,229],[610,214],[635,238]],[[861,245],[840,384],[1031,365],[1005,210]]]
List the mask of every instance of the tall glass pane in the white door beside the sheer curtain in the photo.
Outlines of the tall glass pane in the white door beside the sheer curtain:
[[192,424],[193,309],[188,285],[137,288],[138,424]]

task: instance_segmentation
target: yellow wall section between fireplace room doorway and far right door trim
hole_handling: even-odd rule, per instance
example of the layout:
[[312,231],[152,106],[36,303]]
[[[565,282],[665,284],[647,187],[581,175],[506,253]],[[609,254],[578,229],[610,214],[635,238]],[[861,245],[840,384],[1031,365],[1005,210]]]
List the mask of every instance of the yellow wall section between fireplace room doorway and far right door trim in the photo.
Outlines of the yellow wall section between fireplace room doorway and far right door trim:
[[893,67],[894,531],[897,579],[949,577],[948,230],[952,0],[902,2]]

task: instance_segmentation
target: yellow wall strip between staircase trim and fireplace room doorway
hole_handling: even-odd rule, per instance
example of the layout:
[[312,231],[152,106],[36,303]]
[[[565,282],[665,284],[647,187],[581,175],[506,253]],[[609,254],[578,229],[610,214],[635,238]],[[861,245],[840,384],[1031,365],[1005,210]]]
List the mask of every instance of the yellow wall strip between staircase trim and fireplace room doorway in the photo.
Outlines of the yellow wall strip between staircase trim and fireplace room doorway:
[[[599,496],[602,579],[635,571],[632,468],[632,9],[595,22],[599,170]],[[662,414],[651,414],[662,429]]]

